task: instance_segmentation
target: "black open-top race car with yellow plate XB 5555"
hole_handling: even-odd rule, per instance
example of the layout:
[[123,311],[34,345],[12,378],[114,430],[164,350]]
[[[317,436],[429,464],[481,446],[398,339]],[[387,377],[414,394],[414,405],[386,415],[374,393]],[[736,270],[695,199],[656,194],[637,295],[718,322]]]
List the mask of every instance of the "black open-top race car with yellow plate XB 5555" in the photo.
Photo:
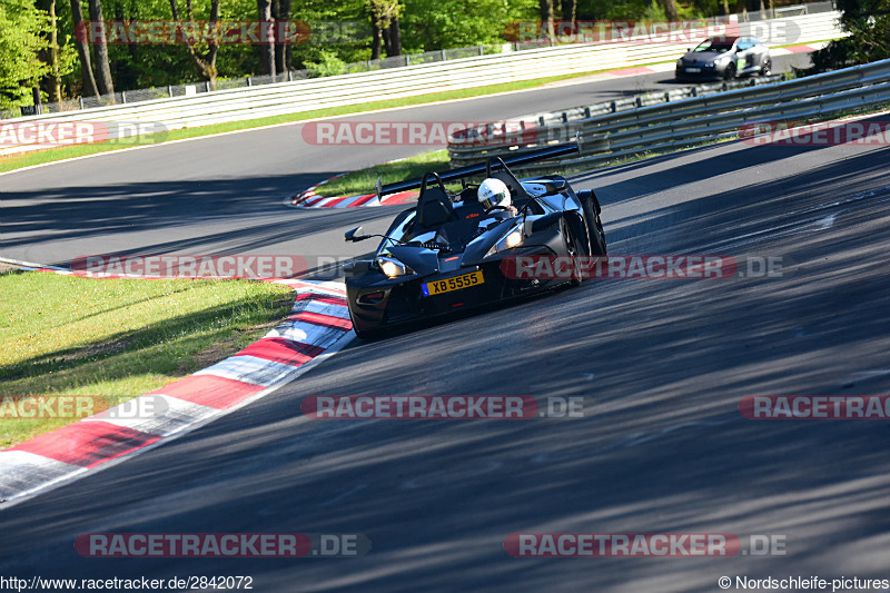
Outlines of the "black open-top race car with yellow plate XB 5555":
[[[575,192],[560,176],[518,180],[507,167],[576,150],[576,145],[557,146],[506,162],[495,157],[484,165],[431,171],[421,180],[378,181],[378,198],[421,191],[417,205],[396,216],[385,235],[363,235],[362,227],[346,233],[347,241],[382,239],[373,259],[344,267],[358,337],[370,339],[393,326],[581,284],[578,256],[606,255],[595,194]],[[468,182],[482,174],[482,184]],[[459,189],[446,187],[457,180]],[[490,188],[500,188],[500,194],[479,199]],[[522,277],[511,274],[510,263],[517,256],[562,256],[571,269],[550,278]]]

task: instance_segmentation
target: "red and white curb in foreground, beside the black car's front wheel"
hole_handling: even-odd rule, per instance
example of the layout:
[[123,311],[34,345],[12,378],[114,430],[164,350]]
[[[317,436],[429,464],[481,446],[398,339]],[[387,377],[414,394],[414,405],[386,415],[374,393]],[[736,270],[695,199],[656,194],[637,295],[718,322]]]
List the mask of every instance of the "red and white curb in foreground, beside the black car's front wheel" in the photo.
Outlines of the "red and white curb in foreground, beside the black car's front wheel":
[[294,380],[355,337],[342,283],[270,281],[297,290],[287,319],[234,356],[137,398],[151,398],[148,409],[158,409],[154,404],[162,398],[164,413],[131,418],[111,408],[0,451],[0,506],[108,467],[229,414]]

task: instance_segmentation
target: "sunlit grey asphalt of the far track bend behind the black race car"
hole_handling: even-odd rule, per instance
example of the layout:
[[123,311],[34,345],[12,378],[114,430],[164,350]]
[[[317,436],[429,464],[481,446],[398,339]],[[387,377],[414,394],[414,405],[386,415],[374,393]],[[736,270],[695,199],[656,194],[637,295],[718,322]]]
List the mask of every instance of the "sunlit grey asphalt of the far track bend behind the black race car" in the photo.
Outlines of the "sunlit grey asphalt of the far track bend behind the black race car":
[[[775,70],[805,65],[775,58]],[[660,73],[344,118],[496,121],[675,87]],[[324,179],[424,152],[429,146],[313,146],[301,123],[61,162],[0,176],[0,257],[68,265],[99,254],[359,255],[342,229],[388,211],[283,210]],[[369,190],[373,188],[369,188]]]

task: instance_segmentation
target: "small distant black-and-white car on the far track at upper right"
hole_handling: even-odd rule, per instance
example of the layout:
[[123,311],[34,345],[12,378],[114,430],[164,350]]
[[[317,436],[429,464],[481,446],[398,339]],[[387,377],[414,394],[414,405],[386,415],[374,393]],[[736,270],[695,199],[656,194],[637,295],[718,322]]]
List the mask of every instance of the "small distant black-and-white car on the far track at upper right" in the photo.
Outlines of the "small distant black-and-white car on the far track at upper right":
[[742,75],[769,76],[770,49],[753,37],[714,37],[676,60],[678,80],[733,79]]

